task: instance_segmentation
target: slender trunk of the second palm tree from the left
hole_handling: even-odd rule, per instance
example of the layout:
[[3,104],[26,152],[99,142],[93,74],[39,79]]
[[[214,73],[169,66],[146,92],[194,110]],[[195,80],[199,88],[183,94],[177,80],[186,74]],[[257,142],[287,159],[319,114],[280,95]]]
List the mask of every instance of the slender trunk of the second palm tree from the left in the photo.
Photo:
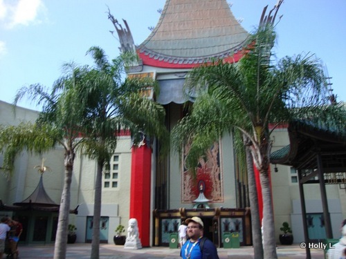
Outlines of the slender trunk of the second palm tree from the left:
[[98,160],[98,169],[95,181],[95,197],[93,202],[93,241],[91,242],[91,259],[100,258],[100,218],[102,198],[102,169],[103,161]]

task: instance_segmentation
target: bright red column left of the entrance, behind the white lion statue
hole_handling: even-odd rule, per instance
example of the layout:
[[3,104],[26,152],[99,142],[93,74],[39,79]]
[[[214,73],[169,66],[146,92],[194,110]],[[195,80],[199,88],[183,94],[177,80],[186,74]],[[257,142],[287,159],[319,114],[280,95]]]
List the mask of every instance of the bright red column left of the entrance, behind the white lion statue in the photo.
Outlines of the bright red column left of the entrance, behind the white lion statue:
[[149,247],[152,148],[133,146],[131,151],[131,191],[129,218],[136,218],[142,247]]

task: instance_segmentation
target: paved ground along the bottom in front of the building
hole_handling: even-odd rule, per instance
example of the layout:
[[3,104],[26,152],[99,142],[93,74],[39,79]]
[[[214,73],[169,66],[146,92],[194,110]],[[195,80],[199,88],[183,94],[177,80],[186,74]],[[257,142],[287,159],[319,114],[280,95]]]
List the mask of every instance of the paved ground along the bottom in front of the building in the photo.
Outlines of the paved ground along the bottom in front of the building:
[[[19,246],[20,259],[46,259],[53,258],[53,244]],[[90,258],[91,244],[68,244],[66,258]],[[239,249],[217,249],[220,259],[253,259],[252,247],[240,247]],[[168,247],[149,247],[138,250],[124,249],[123,246],[114,244],[100,244],[101,259],[179,259],[180,250]],[[305,249],[298,244],[291,246],[278,246],[277,256],[280,259],[306,258]],[[4,258],[6,258],[4,256]],[[311,249],[311,258],[322,259],[322,249]]]

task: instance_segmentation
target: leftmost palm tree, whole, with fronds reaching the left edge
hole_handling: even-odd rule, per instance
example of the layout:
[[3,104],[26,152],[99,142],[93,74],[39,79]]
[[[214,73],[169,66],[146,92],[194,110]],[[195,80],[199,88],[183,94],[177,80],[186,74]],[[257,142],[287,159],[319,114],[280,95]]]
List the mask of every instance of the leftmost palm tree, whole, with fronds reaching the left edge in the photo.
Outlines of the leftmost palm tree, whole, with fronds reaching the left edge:
[[42,153],[60,144],[64,148],[64,187],[60,202],[54,258],[66,257],[67,227],[69,224],[71,179],[75,151],[82,144],[85,109],[78,87],[88,72],[86,67],[64,64],[64,74],[53,84],[51,93],[40,84],[24,86],[15,97],[16,105],[24,96],[43,111],[35,124],[3,127],[0,133],[0,149],[5,150],[3,167],[8,173],[13,169],[15,157],[23,150]]

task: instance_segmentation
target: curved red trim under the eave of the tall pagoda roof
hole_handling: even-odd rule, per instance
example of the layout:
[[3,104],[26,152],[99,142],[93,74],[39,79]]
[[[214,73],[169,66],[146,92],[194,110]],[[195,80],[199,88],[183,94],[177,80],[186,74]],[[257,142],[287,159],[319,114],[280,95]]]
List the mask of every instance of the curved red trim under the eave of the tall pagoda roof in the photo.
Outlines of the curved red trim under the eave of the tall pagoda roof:
[[[231,57],[226,57],[224,59],[224,61],[229,62],[229,63],[236,63],[237,61],[239,61],[239,59],[242,58],[243,54],[244,54],[244,52],[239,51]],[[140,59],[142,59],[143,65],[154,66],[156,68],[195,68],[197,66],[201,66],[201,64],[204,64],[204,62],[198,63],[198,64],[170,63],[170,62],[163,61],[163,60],[160,61],[158,59],[152,59],[151,57],[149,57],[149,55],[145,55],[144,52],[139,52],[138,55],[139,55]]]

